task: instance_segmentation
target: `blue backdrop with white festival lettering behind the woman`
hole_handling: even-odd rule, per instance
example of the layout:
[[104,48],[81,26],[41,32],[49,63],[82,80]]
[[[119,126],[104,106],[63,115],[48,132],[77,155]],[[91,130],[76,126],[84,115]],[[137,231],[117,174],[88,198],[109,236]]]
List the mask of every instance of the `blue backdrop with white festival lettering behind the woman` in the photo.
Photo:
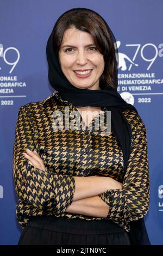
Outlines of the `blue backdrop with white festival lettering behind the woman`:
[[46,42],[58,17],[76,7],[97,11],[115,34],[118,92],[137,108],[147,128],[151,200],[145,223],[152,245],[163,245],[161,0],[0,0],[0,244],[16,245],[21,234],[12,179],[18,109],[53,93]]

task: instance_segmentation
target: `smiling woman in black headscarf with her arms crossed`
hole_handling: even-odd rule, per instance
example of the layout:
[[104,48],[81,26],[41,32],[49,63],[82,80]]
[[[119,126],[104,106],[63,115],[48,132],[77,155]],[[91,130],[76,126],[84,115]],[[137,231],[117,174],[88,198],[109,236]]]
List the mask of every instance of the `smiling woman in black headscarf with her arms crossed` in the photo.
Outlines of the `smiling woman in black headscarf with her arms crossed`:
[[[117,93],[111,29],[95,11],[68,10],[47,60],[55,92],[21,106],[16,124],[18,245],[149,244],[146,127]],[[102,116],[111,131],[96,129]]]

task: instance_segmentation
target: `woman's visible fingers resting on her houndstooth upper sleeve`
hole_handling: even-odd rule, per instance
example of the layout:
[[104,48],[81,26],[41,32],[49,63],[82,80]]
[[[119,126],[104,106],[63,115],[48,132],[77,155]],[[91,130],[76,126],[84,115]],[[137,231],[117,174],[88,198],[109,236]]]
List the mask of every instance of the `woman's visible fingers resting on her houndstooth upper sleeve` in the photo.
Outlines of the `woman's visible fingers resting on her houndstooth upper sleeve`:
[[26,153],[23,153],[23,154],[24,154],[24,157],[26,157],[29,160],[29,163],[32,164],[32,166],[40,170],[46,170],[43,160],[41,159],[39,154],[37,154],[36,150],[31,151],[27,149]]

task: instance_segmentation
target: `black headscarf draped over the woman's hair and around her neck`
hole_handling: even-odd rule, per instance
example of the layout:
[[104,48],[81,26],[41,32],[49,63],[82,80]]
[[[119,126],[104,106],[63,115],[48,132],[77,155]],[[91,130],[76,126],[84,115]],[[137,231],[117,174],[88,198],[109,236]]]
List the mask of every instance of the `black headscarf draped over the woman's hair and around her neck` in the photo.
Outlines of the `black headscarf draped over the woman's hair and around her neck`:
[[[128,109],[134,109],[134,111],[137,113],[137,109],[133,105],[124,101],[121,95],[117,92],[118,50],[117,50],[116,39],[110,27],[106,23],[106,21],[103,19],[103,17],[100,16],[101,19],[104,21],[106,27],[108,28],[108,31],[111,34],[112,41],[114,42],[115,55],[116,55],[115,63],[114,63],[114,74],[116,77],[115,88],[112,89],[106,83],[103,84],[104,89],[97,89],[97,90],[80,89],[73,86],[73,84],[71,84],[67,80],[66,76],[62,72],[59,59],[58,59],[58,54],[55,51],[53,46],[55,27],[57,26],[60,18],[71,10],[76,10],[76,11],[89,10],[95,13],[96,15],[100,16],[95,11],[87,8],[73,8],[66,11],[58,18],[58,20],[55,22],[52,33],[48,38],[47,47],[46,47],[47,61],[48,61],[48,68],[49,68],[48,69],[49,82],[51,83],[51,86],[59,92],[59,94],[63,99],[71,102],[76,107],[81,107],[81,106],[106,107],[108,111],[111,111],[111,131],[112,133],[114,133],[114,136],[116,137],[117,142],[122,149],[123,157],[124,157],[124,174],[123,174],[123,178],[124,178],[124,175],[126,174],[127,162],[130,154],[131,130],[122,111],[128,108]],[[83,21],[83,24],[84,24],[84,21]],[[139,221],[136,221],[136,224]],[[144,229],[143,231],[146,231],[145,225],[143,229]],[[140,228],[137,231],[140,231]],[[137,236],[138,235],[140,235],[140,233],[137,234]],[[131,239],[134,239],[134,237],[132,237]],[[133,240],[133,243],[134,243],[134,240]]]

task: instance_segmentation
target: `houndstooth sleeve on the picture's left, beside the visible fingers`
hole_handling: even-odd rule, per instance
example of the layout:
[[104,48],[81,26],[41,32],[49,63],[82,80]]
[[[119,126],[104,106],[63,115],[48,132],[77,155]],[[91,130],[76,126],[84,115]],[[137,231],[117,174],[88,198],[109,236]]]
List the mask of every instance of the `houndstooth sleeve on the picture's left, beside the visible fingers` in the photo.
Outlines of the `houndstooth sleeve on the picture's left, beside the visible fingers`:
[[18,198],[43,212],[59,215],[72,203],[75,180],[72,175],[42,171],[28,163],[23,152],[36,149],[34,129],[24,106],[18,112],[13,148],[13,175]]

